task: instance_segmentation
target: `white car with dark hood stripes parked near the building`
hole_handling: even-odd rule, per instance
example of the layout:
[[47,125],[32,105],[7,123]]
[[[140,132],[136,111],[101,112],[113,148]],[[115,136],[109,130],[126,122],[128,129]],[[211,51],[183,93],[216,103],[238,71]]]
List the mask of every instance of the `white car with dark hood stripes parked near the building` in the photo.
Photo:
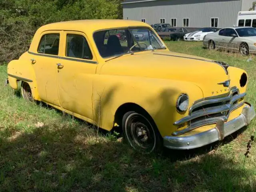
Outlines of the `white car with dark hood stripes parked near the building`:
[[185,34],[184,40],[185,41],[202,41],[204,36],[206,36],[209,33],[214,33],[216,31],[218,31],[218,28],[214,28],[214,27],[202,28],[200,30]]

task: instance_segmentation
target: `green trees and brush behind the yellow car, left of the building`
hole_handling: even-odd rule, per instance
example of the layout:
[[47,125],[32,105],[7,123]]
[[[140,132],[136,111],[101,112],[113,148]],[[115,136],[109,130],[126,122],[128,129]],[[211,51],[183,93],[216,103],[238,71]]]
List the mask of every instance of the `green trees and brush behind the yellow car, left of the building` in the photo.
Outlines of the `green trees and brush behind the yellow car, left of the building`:
[[122,18],[121,0],[0,0],[0,64],[28,50],[42,25],[80,19]]

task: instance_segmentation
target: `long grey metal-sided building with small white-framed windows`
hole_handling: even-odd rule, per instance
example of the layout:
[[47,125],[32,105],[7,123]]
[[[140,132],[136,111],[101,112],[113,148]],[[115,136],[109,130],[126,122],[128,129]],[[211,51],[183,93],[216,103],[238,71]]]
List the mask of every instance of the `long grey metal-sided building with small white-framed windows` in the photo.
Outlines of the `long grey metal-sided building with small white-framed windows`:
[[255,0],[124,0],[124,19],[177,27],[228,27]]

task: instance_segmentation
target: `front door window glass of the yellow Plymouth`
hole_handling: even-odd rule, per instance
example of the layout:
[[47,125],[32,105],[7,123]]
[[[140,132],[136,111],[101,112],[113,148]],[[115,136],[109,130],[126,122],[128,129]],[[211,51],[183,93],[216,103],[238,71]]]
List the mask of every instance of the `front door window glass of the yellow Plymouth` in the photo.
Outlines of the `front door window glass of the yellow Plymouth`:
[[66,56],[81,59],[92,59],[92,52],[84,36],[78,34],[67,34]]

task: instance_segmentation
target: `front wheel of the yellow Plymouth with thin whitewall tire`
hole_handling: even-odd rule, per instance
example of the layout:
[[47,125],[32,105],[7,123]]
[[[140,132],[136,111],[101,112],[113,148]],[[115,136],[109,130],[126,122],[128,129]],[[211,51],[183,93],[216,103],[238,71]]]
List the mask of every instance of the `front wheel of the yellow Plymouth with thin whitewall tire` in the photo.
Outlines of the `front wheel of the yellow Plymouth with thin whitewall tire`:
[[149,118],[134,111],[124,114],[122,119],[124,139],[135,150],[151,153],[162,148],[162,139]]

